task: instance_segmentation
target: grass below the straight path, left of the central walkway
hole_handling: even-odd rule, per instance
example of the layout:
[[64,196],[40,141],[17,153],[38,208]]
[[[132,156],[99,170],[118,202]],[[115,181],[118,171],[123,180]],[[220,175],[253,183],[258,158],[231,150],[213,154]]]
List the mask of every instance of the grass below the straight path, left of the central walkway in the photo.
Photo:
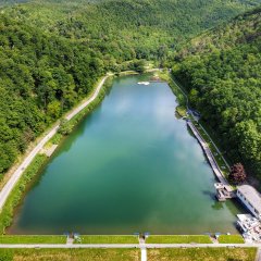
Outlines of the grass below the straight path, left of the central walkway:
[[1,261],[139,261],[139,249],[0,249]]

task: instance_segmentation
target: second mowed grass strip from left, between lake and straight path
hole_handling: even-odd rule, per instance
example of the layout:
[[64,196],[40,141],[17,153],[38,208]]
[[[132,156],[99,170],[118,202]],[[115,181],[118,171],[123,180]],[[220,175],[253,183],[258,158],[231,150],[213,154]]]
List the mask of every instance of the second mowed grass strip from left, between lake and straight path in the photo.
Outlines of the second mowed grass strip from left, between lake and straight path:
[[[82,244],[138,244],[137,236],[79,236]],[[77,244],[75,240],[74,244]]]

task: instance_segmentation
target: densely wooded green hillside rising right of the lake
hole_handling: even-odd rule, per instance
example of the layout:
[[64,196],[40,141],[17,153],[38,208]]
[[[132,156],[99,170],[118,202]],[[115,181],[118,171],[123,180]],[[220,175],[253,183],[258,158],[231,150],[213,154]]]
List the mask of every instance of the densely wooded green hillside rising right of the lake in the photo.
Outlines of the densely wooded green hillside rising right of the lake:
[[261,9],[194,39],[173,73],[231,159],[261,178]]

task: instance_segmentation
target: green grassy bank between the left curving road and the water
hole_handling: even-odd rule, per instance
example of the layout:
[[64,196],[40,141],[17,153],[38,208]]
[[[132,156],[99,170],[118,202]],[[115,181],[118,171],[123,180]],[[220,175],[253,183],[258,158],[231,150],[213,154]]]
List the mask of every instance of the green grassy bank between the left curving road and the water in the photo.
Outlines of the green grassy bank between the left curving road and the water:
[[[94,110],[95,107],[97,107],[100,101],[105,96],[105,90],[108,86],[110,85],[110,82],[104,83],[102,86],[99,96],[83,111],[80,111],[78,114],[76,114],[67,124],[72,126],[72,129],[74,126],[76,126],[82,119],[89,112]],[[95,91],[95,89],[94,89]],[[92,94],[89,95],[89,97]],[[59,144],[64,136],[62,134],[55,134],[50,141],[46,145],[49,147],[51,144]],[[29,182],[36,176],[36,174],[40,171],[40,169],[45,165],[48,158],[45,154],[37,154],[35,159],[32,161],[28,167],[24,171],[22,177],[18,179],[16,185],[14,186],[13,190],[11,191],[10,196],[8,197],[8,200],[2,208],[0,212],[0,234],[5,233],[5,228],[12,224],[13,213],[15,207],[18,204],[23,192],[26,189],[26,185],[29,184]]]

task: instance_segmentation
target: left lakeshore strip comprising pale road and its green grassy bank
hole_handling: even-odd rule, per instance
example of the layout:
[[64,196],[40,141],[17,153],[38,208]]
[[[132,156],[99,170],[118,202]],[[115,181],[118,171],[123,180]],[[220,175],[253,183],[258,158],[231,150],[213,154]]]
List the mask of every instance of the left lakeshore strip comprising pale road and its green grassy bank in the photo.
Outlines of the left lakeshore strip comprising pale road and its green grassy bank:
[[[111,75],[103,76],[90,92],[90,95],[79,102],[75,108],[67,112],[63,117],[67,121],[74,121],[82,112],[86,114],[85,109],[88,109],[92,102],[100,97],[100,92],[104,87],[107,79]],[[83,116],[83,115],[82,115]],[[46,164],[48,159],[40,154],[40,151],[45,146],[58,135],[60,127],[60,120],[53,124],[53,126],[47,130],[37,145],[25,156],[22,163],[18,164],[14,173],[8,179],[0,191],[0,234],[5,234],[5,229],[11,225],[13,221],[14,209],[20,204],[20,200],[27,183],[38,173],[38,170]],[[63,137],[63,135],[61,135]],[[60,142],[59,142],[60,144]]]

